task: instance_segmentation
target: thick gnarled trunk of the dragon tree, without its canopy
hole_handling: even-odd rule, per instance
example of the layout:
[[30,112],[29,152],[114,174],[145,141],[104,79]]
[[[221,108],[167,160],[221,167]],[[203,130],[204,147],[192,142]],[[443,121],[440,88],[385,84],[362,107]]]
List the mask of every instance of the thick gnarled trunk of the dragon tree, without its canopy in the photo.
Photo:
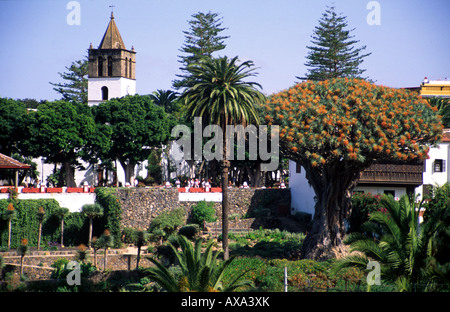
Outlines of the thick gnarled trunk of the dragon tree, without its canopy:
[[311,231],[303,242],[302,258],[322,261],[344,252],[345,220],[351,212],[351,193],[357,175],[330,170],[311,183],[316,192],[316,206]]

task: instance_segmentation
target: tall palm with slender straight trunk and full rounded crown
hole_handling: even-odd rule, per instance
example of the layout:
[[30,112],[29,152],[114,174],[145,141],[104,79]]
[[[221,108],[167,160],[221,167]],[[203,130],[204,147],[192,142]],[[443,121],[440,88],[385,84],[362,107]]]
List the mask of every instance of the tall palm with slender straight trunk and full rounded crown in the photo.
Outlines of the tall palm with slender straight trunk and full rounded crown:
[[189,66],[193,84],[181,95],[186,104],[186,117],[201,117],[202,125],[218,125],[223,132],[222,170],[222,238],[224,259],[228,259],[228,170],[226,125],[247,126],[259,124],[256,104],[264,101],[264,95],[255,87],[256,82],[244,79],[255,76],[253,62],[238,64],[238,58],[206,58]]

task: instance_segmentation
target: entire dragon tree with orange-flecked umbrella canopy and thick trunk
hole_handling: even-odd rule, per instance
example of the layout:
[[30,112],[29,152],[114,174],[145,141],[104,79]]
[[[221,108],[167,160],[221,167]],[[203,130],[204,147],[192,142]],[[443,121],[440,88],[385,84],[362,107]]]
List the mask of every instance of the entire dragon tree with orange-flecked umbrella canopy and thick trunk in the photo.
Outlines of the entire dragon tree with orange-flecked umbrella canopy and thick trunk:
[[280,150],[305,168],[317,196],[303,244],[313,259],[341,245],[362,170],[380,160],[423,161],[442,133],[426,100],[362,79],[306,81],[273,95],[266,110],[266,121],[280,126]]

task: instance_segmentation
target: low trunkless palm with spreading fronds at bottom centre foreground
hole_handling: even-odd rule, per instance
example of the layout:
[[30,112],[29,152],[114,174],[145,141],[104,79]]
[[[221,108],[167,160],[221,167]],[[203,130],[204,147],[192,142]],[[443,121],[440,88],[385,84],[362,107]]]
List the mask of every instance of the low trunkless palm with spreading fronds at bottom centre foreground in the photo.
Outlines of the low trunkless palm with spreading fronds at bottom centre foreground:
[[182,272],[181,277],[175,278],[165,266],[153,258],[148,259],[155,264],[155,267],[145,269],[148,277],[166,291],[233,291],[238,287],[250,285],[247,281],[239,282],[239,279],[246,273],[243,272],[230,285],[224,287],[222,283],[224,272],[234,257],[226,261],[217,260],[220,252],[213,253],[214,241],[210,241],[206,245],[203,254],[201,239],[195,242],[194,247],[185,236],[180,235],[178,243],[181,251],[178,251],[171,243],[169,245],[177,256]]

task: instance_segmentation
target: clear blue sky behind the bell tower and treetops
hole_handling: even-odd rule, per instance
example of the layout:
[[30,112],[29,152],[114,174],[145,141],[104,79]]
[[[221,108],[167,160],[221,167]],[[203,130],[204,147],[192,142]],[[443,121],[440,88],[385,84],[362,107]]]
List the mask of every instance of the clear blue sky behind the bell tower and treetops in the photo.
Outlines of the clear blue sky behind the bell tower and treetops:
[[55,100],[49,82],[97,47],[115,5],[116,24],[134,46],[137,93],[171,89],[179,49],[197,12],[223,18],[230,36],[219,54],[252,60],[265,94],[292,86],[306,73],[307,45],[329,5],[347,17],[352,34],[372,55],[366,76],[391,87],[418,86],[423,78],[450,79],[448,0],[378,0],[380,25],[369,25],[369,0],[79,0],[80,24],[69,25],[69,0],[0,0],[0,96]]

